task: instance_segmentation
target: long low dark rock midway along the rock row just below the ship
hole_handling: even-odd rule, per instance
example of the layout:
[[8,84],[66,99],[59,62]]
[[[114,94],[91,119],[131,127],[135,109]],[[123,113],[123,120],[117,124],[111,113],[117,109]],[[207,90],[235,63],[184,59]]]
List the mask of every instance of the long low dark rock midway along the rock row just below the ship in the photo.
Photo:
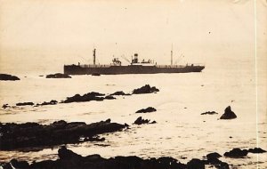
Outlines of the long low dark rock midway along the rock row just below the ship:
[[72,97],[68,97],[64,103],[69,103],[69,102],[84,102],[84,101],[103,101],[105,98],[99,97],[99,96],[104,96],[105,94],[102,93],[86,93],[84,95],[76,94]]

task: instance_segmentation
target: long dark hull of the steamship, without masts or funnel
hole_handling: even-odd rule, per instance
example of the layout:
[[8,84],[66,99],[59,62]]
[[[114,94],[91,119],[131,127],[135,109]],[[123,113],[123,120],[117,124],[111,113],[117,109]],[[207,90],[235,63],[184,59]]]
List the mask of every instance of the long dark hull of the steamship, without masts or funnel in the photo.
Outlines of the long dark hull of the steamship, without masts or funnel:
[[65,65],[64,74],[68,75],[118,75],[118,74],[157,74],[157,73],[189,73],[189,72],[201,72],[205,68],[204,66],[141,66],[141,65],[129,65],[129,66],[93,66],[82,67],[78,65]]

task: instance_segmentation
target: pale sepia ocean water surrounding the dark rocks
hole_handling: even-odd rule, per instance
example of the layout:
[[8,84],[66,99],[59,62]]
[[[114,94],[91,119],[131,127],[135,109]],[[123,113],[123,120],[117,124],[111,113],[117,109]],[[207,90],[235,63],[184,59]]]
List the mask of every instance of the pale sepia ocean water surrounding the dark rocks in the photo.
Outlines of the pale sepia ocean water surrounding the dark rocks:
[[[144,84],[156,86],[159,92],[117,96],[117,100],[112,101],[0,109],[0,119],[2,123],[50,124],[66,120],[89,124],[110,118],[113,122],[130,125],[130,129],[123,132],[101,135],[106,141],[67,146],[83,156],[170,156],[186,163],[193,157],[201,158],[210,152],[223,155],[233,148],[249,149],[258,145],[267,149],[266,84],[255,83],[253,70],[250,66],[239,66],[206,68],[201,73],[187,74],[72,76],[70,79],[20,76],[21,80],[17,82],[0,82],[1,105],[15,105],[20,101],[62,101],[76,93],[131,93]],[[231,106],[238,118],[218,120],[227,106]],[[157,111],[135,114],[138,109],[147,107],[154,107]],[[200,115],[206,111],[219,114]],[[133,125],[140,116],[155,120],[157,124]],[[55,159],[57,149],[0,151],[0,159]],[[267,167],[266,153],[249,153],[246,158],[222,157],[221,160],[233,165],[232,168]]]

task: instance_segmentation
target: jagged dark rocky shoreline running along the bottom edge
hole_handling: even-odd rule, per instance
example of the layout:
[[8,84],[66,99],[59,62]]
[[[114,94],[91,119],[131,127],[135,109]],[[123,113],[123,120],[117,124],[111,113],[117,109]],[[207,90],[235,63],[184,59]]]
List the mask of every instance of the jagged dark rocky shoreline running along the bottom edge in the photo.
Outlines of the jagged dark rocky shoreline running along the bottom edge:
[[[231,150],[233,151],[233,150]],[[236,150],[234,150],[236,151]],[[242,150],[241,150],[242,151]],[[251,153],[266,152],[263,149],[249,149]],[[224,155],[225,156],[225,155]],[[136,156],[104,158],[98,154],[82,157],[77,153],[61,146],[58,149],[58,159],[44,160],[29,164],[27,161],[12,159],[9,163],[2,163],[4,169],[43,169],[43,168],[87,168],[87,169],[205,169],[206,166],[218,169],[229,169],[231,165],[221,161],[220,154],[209,153],[204,159],[192,158],[186,164],[182,164],[173,157],[158,157],[144,159]]]

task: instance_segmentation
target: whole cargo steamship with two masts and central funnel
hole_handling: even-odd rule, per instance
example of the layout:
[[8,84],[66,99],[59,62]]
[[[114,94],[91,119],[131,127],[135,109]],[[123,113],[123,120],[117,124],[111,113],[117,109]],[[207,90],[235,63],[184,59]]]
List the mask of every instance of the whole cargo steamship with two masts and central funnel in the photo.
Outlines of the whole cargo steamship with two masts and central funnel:
[[173,50],[171,51],[171,65],[158,65],[154,60],[138,60],[138,53],[129,61],[129,65],[122,65],[118,58],[114,58],[109,65],[95,63],[96,49],[93,49],[93,64],[64,65],[67,75],[120,75],[120,74],[158,74],[158,73],[190,73],[201,72],[205,66],[196,64],[174,65]]

